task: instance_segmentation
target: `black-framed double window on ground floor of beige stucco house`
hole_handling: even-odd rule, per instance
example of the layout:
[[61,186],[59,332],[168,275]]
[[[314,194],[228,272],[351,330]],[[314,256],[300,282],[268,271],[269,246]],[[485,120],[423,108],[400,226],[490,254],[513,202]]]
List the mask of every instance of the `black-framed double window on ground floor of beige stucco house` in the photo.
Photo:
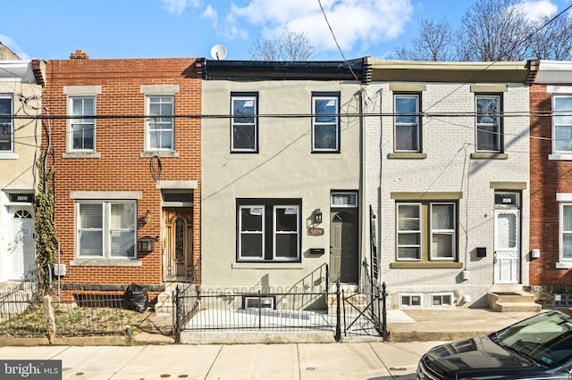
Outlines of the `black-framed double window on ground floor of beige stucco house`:
[[300,260],[300,200],[238,203],[237,260]]

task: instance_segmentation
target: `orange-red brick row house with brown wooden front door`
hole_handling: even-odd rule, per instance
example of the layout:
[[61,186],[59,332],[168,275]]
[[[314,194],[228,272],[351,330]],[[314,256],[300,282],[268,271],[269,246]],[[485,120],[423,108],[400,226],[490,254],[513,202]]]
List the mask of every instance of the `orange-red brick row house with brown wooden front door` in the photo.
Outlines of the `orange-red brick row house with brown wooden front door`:
[[63,299],[199,280],[201,83],[193,58],[47,62]]

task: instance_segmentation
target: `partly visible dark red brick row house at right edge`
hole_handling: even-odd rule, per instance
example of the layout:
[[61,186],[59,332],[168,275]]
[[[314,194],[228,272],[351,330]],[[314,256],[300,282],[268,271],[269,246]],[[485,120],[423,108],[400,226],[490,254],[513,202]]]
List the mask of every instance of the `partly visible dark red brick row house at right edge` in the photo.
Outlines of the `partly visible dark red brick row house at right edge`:
[[572,62],[540,61],[530,89],[530,290],[572,305]]

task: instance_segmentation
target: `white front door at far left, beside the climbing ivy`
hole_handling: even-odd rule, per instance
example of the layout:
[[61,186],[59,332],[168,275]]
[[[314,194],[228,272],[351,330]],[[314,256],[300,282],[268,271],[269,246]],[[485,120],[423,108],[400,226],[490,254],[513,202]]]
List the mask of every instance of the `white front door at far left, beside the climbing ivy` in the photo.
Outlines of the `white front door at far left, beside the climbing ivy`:
[[8,244],[8,278],[20,279],[34,266],[34,218],[31,211],[17,209],[12,214],[12,242]]

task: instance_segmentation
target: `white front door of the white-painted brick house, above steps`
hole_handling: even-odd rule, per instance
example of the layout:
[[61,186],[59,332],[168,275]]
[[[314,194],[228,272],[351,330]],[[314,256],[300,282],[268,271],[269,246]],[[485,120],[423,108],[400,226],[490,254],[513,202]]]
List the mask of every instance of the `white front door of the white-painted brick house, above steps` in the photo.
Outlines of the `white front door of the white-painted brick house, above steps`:
[[494,211],[494,283],[520,282],[520,211]]

